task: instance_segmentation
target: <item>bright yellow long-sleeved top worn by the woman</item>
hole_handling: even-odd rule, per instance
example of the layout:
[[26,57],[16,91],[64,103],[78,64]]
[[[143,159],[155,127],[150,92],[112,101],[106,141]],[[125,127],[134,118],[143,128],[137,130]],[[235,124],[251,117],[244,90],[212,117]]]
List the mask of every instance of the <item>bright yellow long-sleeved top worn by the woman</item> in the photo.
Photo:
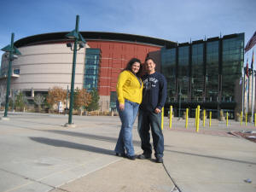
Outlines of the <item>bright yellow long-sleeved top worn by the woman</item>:
[[119,103],[125,103],[125,99],[140,104],[143,100],[143,81],[141,84],[135,74],[130,71],[123,71],[119,74],[116,85]]

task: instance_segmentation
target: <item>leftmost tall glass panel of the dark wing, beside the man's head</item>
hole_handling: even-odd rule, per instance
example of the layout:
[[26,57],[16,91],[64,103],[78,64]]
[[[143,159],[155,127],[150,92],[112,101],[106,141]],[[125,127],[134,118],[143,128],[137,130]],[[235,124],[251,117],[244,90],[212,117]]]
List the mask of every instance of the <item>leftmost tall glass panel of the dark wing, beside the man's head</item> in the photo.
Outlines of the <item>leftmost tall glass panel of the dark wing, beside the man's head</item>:
[[167,102],[176,101],[176,48],[161,49],[161,71],[167,81]]

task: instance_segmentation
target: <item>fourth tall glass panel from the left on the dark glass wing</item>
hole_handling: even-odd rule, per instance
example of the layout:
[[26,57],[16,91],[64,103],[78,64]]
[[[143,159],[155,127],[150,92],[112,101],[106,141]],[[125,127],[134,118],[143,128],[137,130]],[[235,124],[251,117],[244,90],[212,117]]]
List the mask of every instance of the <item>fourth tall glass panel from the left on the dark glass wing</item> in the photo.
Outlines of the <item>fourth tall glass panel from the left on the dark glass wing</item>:
[[218,102],[218,44],[207,42],[207,102]]

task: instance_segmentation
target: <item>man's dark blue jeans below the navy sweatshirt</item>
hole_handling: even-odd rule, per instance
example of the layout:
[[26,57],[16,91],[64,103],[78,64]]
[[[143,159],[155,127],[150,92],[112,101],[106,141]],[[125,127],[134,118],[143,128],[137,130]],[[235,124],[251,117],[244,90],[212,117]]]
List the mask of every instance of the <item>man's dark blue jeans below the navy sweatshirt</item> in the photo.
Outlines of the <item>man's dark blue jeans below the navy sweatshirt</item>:
[[154,113],[154,111],[144,111],[139,109],[138,115],[138,133],[142,140],[143,154],[152,154],[152,147],[150,144],[150,130],[153,137],[154,156],[164,156],[164,136],[161,130],[161,113]]

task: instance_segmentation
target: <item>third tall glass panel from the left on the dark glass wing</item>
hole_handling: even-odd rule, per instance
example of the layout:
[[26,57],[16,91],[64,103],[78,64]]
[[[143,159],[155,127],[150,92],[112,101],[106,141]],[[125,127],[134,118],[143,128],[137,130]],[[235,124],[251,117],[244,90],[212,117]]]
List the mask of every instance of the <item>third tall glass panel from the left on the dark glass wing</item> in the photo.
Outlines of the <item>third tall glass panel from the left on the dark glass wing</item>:
[[192,45],[192,67],[191,67],[191,102],[203,101],[204,90],[204,44]]

